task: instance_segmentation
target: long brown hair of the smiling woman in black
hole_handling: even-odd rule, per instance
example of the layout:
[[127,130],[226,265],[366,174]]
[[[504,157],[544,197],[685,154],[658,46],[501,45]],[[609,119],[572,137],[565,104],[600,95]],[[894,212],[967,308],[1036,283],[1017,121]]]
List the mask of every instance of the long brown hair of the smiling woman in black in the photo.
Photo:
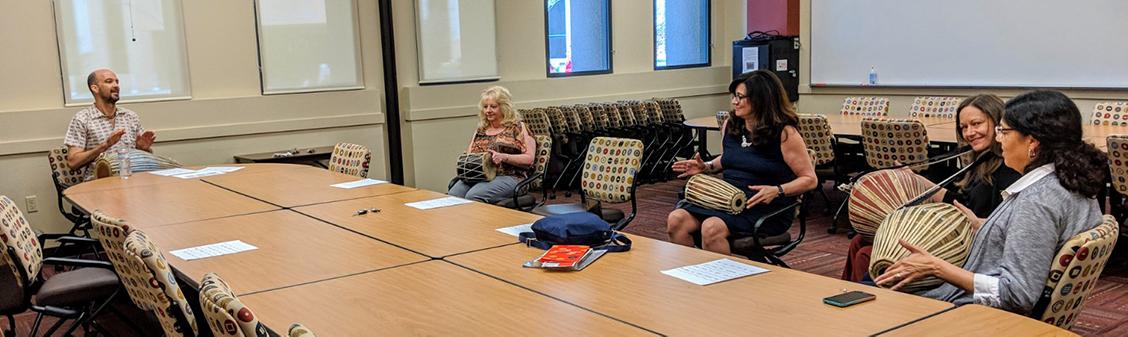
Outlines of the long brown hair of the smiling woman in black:
[[[994,127],[995,125],[998,125],[999,118],[1003,117],[1003,99],[998,98],[998,96],[979,94],[964,98],[963,101],[960,101],[960,106],[955,108],[955,139],[960,140],[960,144],[966,143],[963,141],[963,126],[960,124],[960,113],[963,112],[963,108],[969,106],[987,114],[987,117],[990,118],[989,127],[992,134],[995,133]],[[955,181],[955,186],[959,188],[967,188],[971,185],[971,181],[977,179],[987,184],[995,184],[995,181],[993,181],[994,178],[992,178],[992,174],[1003,166],[1003,147],[995,141],[994,135],[990,136],[988,141],[990,141],[990,147],[987,148],[987,152],[990,153],[975,153],[969,156],[969,158],[966,158],[964,163],[971,163],[971,160],[973,160],[976,156],[987,156],[987,158],[982,159],[984,162],[972,169],[969,175],[966,175],[962,179]]]

